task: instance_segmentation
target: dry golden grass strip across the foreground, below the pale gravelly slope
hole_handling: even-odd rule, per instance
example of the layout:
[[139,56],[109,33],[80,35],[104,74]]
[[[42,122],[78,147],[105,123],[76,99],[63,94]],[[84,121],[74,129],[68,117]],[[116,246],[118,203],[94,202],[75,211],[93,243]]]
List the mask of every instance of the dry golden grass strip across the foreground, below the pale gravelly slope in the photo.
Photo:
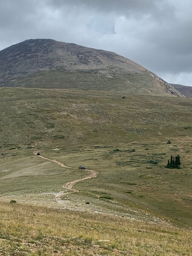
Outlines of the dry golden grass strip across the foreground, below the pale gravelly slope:
[[1,201],[0,255],[191,255],[191,231]]

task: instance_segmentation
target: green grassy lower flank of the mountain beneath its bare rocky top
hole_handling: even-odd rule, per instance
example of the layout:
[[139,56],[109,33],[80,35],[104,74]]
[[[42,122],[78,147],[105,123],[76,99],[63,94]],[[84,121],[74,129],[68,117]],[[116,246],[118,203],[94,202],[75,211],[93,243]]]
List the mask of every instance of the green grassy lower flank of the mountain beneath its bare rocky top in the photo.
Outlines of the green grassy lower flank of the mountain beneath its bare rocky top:
[[148,71],[134,74],[123,74],[111,71],[111,75],[98,73],[95,70],[65,71],[49,70],[25,79],[17,79],[15,85],[32,88],[52,88],[52,89],[84,89],[84,90],[117,90],[123,93],[154,94],[164,95],[162,88],[154,86],[153,77]]

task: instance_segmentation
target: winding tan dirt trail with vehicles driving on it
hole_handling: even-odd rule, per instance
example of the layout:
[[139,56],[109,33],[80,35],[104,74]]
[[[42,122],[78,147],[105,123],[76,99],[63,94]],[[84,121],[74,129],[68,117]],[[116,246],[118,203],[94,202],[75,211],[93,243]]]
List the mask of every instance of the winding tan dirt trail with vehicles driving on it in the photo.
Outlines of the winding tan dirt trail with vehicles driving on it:
[[[57,161],[57,160],[55,160],[55,159],[51,159],[51,158],[48,158],[48,157],[44,157],[44,156],[41,156],[41,155],[37,155],[37,152],[38,152],[38,151],[34,151],[33,154],[35,154],[36,156],[41,157],[41,158],[43,158],[43,159],[45,159],[45,160],[49,160],[49,161],[51,161],[51,162],[53,162],[53,163],[57,163],[57,164],[58,164],[59,166],[61,166],[61,167],[65,167],[65,168],[69,168],[69,169],[76,169],[76,168],[71,167],[71,166],[66,166],[64,163],[61,163],[61,162],[59,162],[59,161]],[[75,184],[78,183],[79,181],[95,178],[95,177],[97,177],[97,175],[99,174],[98,171],[95,171],[95,170],[92,170],[92,169],[86,169],[86,170],[90,172],[90,175],[88,175],[88,176],[86,176],[86,177],[83,177],[83,178],[80,178],[80,179],[78,179],[78,180],[72,180],[72,181],[67,182],[66,184],[63,185],[63,188],[64,188],[64,189],[68,189],[68,190],[70,190],[70,191],[69,191],[69,192],[60,193],[60,194],[56,195],[55,198],[56,198],[57,201],[62,200],[62,197],[63,197],[64,195],[69,195],[69,194],[72,194],[72,193],[75,193],[75,192],[79,192],[78,189],[73,189],[73,185],[75,185]]]

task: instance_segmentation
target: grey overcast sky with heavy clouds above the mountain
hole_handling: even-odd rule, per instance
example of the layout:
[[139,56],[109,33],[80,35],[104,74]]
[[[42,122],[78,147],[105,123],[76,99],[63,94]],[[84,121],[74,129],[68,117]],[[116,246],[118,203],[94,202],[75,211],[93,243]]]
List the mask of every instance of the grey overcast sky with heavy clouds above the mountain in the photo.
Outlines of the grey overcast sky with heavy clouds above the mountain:
[[0,0],[0,50],[30,38],[113,51],[192,86],[192,0]]

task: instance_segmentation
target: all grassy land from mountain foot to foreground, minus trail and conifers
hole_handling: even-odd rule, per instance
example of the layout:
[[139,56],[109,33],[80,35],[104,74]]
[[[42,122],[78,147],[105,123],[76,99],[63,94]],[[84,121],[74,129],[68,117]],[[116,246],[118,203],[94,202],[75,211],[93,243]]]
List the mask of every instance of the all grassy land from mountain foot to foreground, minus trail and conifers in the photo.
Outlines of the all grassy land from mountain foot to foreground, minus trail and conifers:
[[[0,94],[0,254],[190,255],[190,99],[70,89]],[[165,168],[176,154],[181,169]],[[88,174],[81,164],[98,177],[58,204],[63,185]]]

